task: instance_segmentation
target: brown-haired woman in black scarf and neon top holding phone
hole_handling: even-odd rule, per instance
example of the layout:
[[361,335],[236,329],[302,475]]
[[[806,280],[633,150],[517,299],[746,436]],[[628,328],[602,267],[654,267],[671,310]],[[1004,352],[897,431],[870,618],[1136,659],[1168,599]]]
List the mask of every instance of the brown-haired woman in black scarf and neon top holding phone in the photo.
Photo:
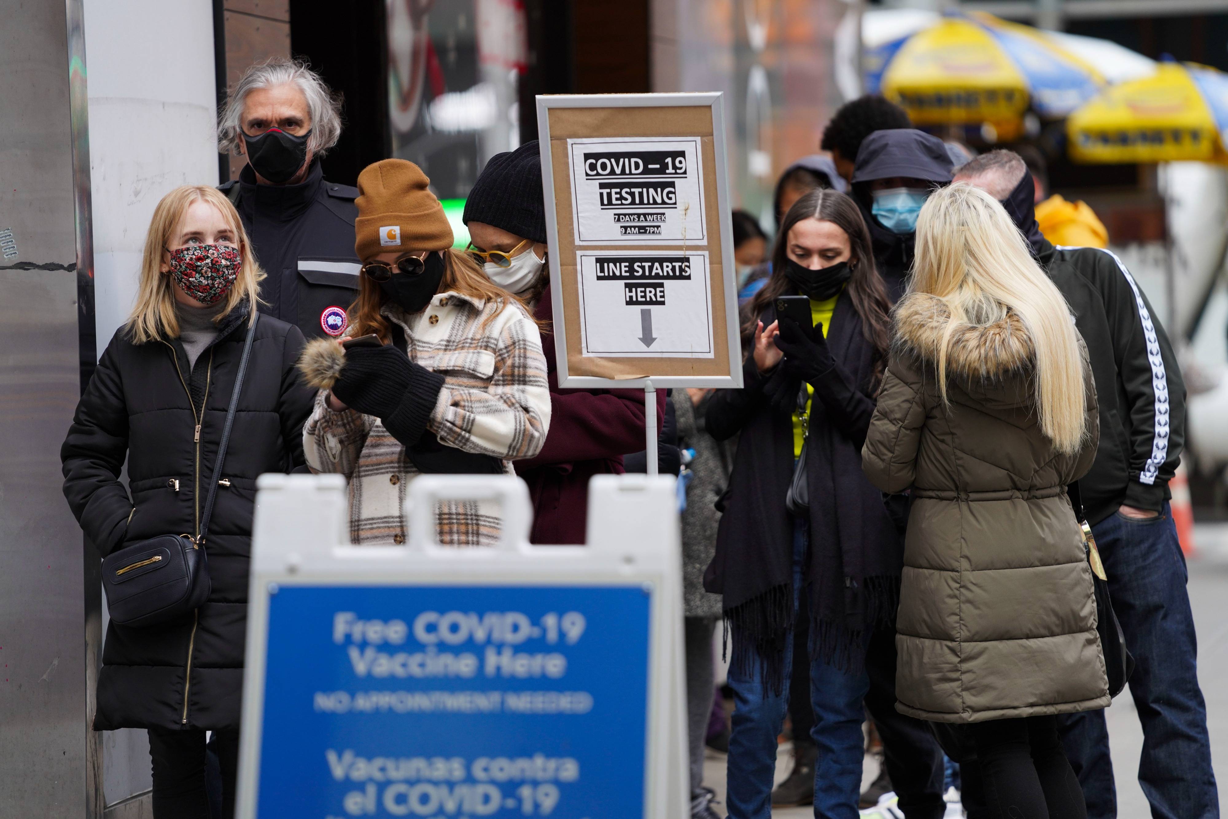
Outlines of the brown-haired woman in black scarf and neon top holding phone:
[[[797,296],[801,314],[791,307]],[[901,807],[907,809],[910,792],[936,803],[927,807],[942,804],[937,747],[920,722],[892,708],[892,624],[903,545],[896,519],[861,474],[861,447],[888,355],[889,309],[853,200],[825,189],[803,195],[785,215],[772,276],[748,309],[745,387],[718,390],[707,408],[713,437],[740,433],[705,578],[710,592],[725,596],[732,639],[728,808],[734,819],[771,813],[790,667],[807,662],[792,657],[803,598],[812,737],[819,750],[815,815],[857,814],[863,700],[880,721],[884,742],[895,739],[898,753],[888,751],[888,766],[909,794],[901,794]],[[807,490],[795,491],[790,505],[795,478],[804,479]]]

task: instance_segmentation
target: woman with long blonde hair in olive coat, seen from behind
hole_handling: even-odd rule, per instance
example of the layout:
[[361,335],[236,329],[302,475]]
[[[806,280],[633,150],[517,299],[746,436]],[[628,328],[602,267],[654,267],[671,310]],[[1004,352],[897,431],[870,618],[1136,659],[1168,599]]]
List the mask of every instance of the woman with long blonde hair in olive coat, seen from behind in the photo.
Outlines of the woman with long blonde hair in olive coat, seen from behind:
[[987,815],[1083,819],[1055,715],[1110,702],[1066,495],[1099,433],[1087,350],[989,194],[935,193],[916,236],[862,453],[879,489],[912,497],[896,708],[969,724]]

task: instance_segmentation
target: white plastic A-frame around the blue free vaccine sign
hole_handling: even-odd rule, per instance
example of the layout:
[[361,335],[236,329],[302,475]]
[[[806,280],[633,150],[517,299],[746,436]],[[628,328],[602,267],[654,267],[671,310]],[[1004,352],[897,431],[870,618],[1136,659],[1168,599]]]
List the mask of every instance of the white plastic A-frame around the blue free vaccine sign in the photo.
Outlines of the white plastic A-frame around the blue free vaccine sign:
[[[650,597],[642,817],[686,815],[682,538],[672,476],[593,478],[585,546],[530,545],[528,487],[512,475],[415,478],[405,501],[410,538],[404,546],[349,543],[340,475],[266,474],[257,486],[237,817],[258,815],[270,598],[292,586],[402,586],[410,594],[415,587],[449,586],[640,589]],[[453,499],[500,503],[497,545],[457,549],[436,541],[433,511],[440,501]],[[340,813],[340,805],[319,809],[319,815]]]

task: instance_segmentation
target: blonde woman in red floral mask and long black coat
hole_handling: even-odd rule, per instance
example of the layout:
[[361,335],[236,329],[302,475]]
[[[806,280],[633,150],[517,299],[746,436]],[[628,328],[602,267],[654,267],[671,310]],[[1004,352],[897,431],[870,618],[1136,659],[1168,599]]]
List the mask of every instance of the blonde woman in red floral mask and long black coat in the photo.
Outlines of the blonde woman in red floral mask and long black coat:
[[[233,813],[255,479],[305,464],[301,430],[313,393],[295,370],[303,336],[275,318],[257,320],[263,276],[226,196],[203,185],[163,196],[136,305],[102,354],[60,452],[64,495],[101,557],[181,533],[208,556],[211,592],[192,614],[107,627],[93,728],[149,731],[157,819],[209,817],[206,731],[222,765],[223,813]],[[253,323],[239,411],[215,475]],[[201,540],[212,478],[219,486]]]

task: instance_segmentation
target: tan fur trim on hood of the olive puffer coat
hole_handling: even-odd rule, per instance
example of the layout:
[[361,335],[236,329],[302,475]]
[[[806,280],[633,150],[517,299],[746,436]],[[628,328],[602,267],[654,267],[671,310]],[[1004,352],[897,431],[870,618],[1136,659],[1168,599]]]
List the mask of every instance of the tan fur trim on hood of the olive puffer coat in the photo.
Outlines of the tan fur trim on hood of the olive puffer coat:
[[[950,308],[937,296],[909,293],[895,307],[895,355],[906,355],[930,366],[937,363],[938,346],[950,318]],[[1013,312],[992,324],[959,324],[950,335],[947,372],[968,383],[1001,381],[1032,370],[1036,350],[1032,334]]]

